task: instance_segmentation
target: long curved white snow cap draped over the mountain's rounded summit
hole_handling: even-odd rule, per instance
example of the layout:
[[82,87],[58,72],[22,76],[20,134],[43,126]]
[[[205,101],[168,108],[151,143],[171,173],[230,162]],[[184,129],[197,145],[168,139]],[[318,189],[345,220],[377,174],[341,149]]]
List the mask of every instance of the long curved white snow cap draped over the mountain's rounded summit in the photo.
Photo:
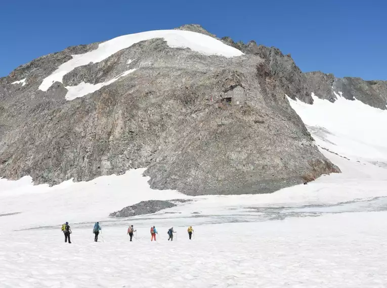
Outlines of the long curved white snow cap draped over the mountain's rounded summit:
[[98,49],[94,51],[85,54],[73,55],[71,60],[63,63],[56,71],[45,78],[40,84],[39,89],[47,91],[54,82],[62,82],[63,76],[71,72],[76,67],[101,62],[122,49],[130,47],[140,41],[153,38],[163,38],[170,47],[187,47],[205,55],[219,55],[224,57],[236,57],[243,55],[241,51],[224,44],[220,40],[191,31],[156,30],[129,34],[103,42],[99,44]]

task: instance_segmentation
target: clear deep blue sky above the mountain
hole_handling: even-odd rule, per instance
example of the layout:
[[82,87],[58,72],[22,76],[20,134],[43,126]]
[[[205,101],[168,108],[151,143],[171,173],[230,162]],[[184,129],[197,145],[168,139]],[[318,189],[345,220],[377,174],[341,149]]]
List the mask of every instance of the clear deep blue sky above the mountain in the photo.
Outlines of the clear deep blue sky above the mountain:
[[67,46],[200,24],[290,53],[304,72],[387,80],[386,0],[18,0],[0,6],[0,76]]

